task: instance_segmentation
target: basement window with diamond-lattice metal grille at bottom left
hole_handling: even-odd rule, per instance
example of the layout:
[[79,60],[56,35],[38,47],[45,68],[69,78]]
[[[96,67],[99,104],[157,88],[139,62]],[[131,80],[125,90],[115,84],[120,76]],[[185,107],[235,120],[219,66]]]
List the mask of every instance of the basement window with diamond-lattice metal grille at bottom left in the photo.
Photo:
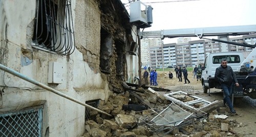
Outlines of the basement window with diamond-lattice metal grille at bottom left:
[[41,136],[42,107],[0,114],[0,136]]

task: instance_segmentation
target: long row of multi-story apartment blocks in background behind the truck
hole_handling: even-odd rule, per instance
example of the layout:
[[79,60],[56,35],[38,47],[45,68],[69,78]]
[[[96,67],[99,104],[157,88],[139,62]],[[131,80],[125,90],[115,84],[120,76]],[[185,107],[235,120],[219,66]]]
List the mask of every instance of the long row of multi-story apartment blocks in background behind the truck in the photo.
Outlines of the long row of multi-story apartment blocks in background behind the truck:
[[[228,40],[237,43],[255,44],[256,35],[233,37],[228,38]],[[184,39],[179,39],[178,43],[148,45],[151,45],[150,66],[152,66],[152,68],[184,65],[193,67],[195,65],[202,64],[205,56],[208,53],[221,51],[242,51],[245,57],[247,57],[248,53],[252,50],[250,47],[220,43],[210,40],[195,40],[185,42]]]

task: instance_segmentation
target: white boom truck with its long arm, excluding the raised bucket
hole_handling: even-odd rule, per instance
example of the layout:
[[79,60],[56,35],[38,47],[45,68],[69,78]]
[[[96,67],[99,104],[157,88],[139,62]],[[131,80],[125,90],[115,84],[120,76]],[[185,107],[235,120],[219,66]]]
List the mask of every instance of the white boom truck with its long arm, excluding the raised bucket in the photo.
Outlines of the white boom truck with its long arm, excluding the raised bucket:
[[[248,57],[244,59],[243,54],[240,52],[219,52],[218,54],[218,63],[214,62],[215,53],[210,53],[205,58],[204,69],[202,74],[201,84],[203,87],[204,93],[207,93],[209,89],[216,88],[221,89],[219,83],[214,79],[214,74],[217,66],[220,65],[220,61],[223,58],[231,57],[229,59],[229,65],[233,65],[233,70],[237,75],[237,79],[239,81],[240,87],[236,87],[234,89],[235,96],[241,97],[244,93],[249,93],[250,91],[255,91],[256,89],[256,76],[250,75],[250,73],[256,67],[256,49],[255,44],[250,45],[247,43],[237,43],[230,42],[228,40],[228,36],[237,36],[237,35],[250,35],[256,33],[256,25],[241,25],[241,26],[220,26],[220,27],[211,27],[211,28],[194,28],[194,29],[177,29],[177,30],[163,30],[163,31],[151,31],[151,32],[139,32],[140,38],[154,38],[161,37],[164,38],[175,38],[175,37],[198,37],[200,39],[208,39],[204,38],[207,36],[219,36],[220,39],[208,39],[211,41],[217,41],[232,45],[245,46],[254,48]],[[211,58],[211,59],[209,59]],[[233,62],[232,62],[233,61]],[[233,64],[232,64],[233,63]],[[211,66],[207,66],[210,65]],[[205,68],[206,66],[206,68]]]

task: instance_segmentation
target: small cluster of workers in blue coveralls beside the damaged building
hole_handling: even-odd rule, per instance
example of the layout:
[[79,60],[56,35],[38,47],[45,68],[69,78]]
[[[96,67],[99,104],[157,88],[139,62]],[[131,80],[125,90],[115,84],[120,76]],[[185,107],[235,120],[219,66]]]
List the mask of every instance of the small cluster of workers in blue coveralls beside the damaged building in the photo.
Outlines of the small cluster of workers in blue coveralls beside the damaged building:
[[146,71],[146,69],[144,68],[144,73],[143,73],[143,78],[145,80],[145,85],[148,85],[148,75],[150,75],[150,85],[151,86],[158,86],[157,83],[157,70],[156,69],[152,69],[150,74]]

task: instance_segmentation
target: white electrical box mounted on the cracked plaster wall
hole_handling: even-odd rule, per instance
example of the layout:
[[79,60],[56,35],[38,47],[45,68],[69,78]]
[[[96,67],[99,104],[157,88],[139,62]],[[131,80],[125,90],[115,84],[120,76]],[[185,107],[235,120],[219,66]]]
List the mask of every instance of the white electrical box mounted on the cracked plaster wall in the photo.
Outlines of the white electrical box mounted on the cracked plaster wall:
[[58,62],[49,62],[48,83],[62,84],[63,82],[63,65]]

